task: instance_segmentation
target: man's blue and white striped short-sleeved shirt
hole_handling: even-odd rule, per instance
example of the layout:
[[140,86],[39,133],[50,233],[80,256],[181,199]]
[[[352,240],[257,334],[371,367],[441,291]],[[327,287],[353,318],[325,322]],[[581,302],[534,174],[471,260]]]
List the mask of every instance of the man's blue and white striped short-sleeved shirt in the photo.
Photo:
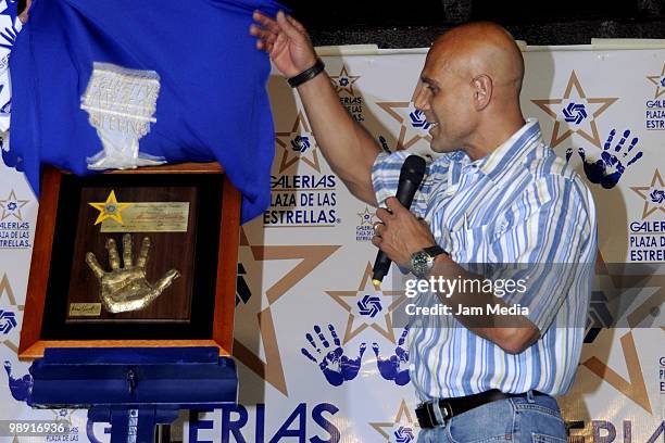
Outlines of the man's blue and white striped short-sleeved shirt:
[[[394,195],[409,152],[379,154],[377,201]],[[457,264],[566,264],[541,273],[519,300],[540,339],[519,354],[464,328],[453,316],[412,328],[411,380],[428,401],[499,389],[565,393],[579,362],[597,252],[595,208],[579,176],[543,143],[537,121],[484,159],[462,151],[430,163],[411,211]],[[425,294],[423,296],[436,296]],[[510,300],[504,301],[507,304]],[[514,303],[514,301],[513,301]]]

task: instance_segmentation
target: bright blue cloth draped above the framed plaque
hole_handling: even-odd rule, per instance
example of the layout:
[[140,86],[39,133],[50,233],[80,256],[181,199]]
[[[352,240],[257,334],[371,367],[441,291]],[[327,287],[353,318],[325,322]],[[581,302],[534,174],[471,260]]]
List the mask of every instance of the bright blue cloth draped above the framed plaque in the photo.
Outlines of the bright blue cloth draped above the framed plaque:
[[93,63],[154,72],[155,122],[140,153],[218,161],[242,192],[242,221],[253,218],[269,203],[274,128],[269,61],[248,29],[253,10],[280,8],[272,0],[35,0],[10,63],[9,166],[25,170],[37,194],[45,163],[92,173],[86,159],[103,145],[81,97]]

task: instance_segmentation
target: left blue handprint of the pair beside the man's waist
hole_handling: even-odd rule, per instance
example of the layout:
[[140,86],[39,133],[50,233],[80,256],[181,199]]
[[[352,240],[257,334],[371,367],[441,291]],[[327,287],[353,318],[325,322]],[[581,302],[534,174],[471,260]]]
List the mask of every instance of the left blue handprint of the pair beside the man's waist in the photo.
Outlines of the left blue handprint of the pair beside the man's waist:
[[308,339],[308,342],[312,349],[316,352],[315,355],[318,357],[318,359],[314,357],[314,355],[312,355],[312,353],[305,347],[302,347],[300,351],[302,352],[302,355],[318,365],[328,383],[332,384],[334,387],[339,387],[344,381],[353,380],[357,376],[361,367],[361,359],[363,358],[363,354],[365,353],[367,345],[362,343],[357,357],[351,359],[344,355],[344,350],[341,347],[341,343],[337,332],[335,331],[335,327],[332,327],[332,325],[328,325],[328,330],[332,337],[335,349],[330,347],[330,342],[324,336],[321,327],[318,325],[314,325],[314,332],[318,337],[318,340],[323,345],[323,350],[316,344],[314,337],[311,333],[308,332],[305,338]]

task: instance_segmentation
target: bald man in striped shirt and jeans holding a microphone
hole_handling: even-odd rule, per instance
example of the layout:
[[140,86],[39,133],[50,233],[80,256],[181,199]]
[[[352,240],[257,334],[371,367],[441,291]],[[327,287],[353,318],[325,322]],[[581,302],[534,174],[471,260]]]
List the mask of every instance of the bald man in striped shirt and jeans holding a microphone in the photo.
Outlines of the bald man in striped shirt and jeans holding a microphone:
[[[443,155],[405,208],[392,195],[407,153],[384,153],[346,112],[300,23],[281,12],[254,20],[256,47],[297,88],[332,170],[381,206],[372,242],[429,283],[419,305],[450,307],[414,318],[410,330],[418,442],[565,442],[553,396],[570,388],[579,362],[595,210],[538,122],[523,116],[524,61],[513,37],[472,23],[430,48],[415,105]],[[507,273],[514,264],[518,271]],[[497,278],[505,276],[523,278],[507,289]],[[441,280],[460,286],[446,292],[434,286]]]

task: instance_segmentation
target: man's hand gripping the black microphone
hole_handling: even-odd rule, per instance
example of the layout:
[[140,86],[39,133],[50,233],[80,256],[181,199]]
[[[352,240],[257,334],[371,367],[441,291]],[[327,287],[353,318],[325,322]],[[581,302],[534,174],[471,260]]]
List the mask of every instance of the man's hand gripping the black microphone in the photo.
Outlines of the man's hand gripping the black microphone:
[[390,197],[386,207],[378,208],[376,216],[381,220],[374,226],[372,244],[384,251],[398,265],[410,268],[411,255],[423,248],[437,244],[429,226],[416,218],[398,199]]

